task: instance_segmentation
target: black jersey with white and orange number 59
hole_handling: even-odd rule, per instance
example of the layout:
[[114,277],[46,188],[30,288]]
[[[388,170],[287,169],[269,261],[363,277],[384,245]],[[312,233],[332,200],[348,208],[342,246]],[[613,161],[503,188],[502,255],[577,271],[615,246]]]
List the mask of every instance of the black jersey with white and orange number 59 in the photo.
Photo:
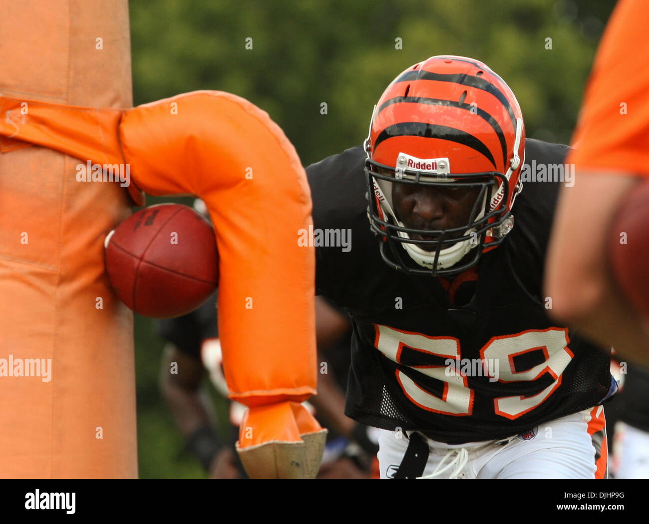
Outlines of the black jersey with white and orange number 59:
[[[525,160],[559,164],[567,150],[528,139]],[[610,353],[552,322],[541,291],[562,183],[525,182],[513,230],[450,285],[384,263],[367,219],[364,160],[355,147],[307,169],[314,234],[351,235],[346,248],[314,241],[317,292],[352,316],[346,414],[462,444],[601,403],[611,388]]]

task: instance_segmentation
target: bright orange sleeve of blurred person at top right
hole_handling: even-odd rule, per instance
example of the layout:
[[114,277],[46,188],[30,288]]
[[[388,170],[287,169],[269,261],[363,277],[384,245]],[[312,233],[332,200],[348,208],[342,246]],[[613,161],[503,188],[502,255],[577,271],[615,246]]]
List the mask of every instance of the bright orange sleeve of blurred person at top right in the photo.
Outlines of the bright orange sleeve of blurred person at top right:
[[568,161],[649,176],[649,2],[620,0],[597,51]]

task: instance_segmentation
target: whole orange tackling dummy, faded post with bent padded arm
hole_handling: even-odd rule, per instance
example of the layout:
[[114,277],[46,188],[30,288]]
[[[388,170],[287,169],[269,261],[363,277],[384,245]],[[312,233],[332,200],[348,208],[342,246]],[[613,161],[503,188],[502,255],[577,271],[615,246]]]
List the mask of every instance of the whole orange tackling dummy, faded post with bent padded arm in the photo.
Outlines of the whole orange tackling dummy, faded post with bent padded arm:
[[[12,43],[0,46],[0,364],[49,366],[47,380],[0,376],[0,476],[137,476],[132,314],[103,241],[141,191],[197,195],[217,224],[219,333],[230,396],[249,406],[249,473],[315,476],[324,430],[300,405],[316,386],[314,259],[297,243],[311,200],[293,146],[228,93],[122,109],[125,1],[8,3],[0,29]],[[128,165],[129,183],[79,182],[89,161]]]

